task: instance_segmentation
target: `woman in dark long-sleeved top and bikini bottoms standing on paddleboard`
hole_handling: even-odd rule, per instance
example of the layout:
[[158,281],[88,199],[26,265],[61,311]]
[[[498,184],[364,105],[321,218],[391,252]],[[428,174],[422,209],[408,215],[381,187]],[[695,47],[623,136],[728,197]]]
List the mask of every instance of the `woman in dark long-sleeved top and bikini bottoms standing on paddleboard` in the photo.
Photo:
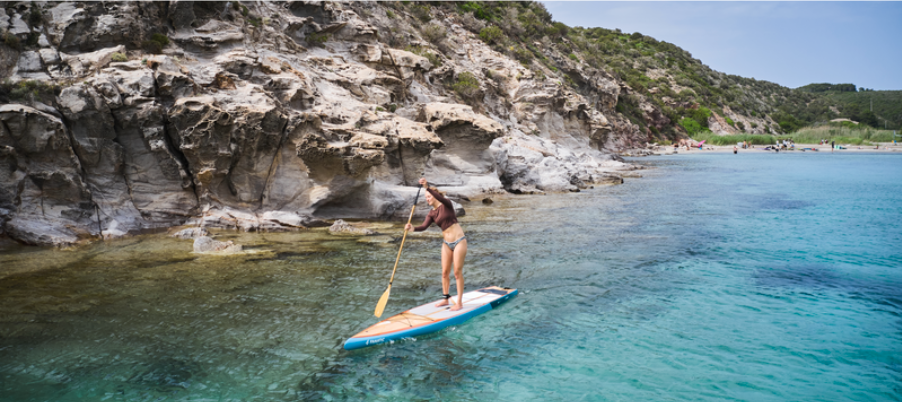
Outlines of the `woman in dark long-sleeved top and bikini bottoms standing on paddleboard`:
[[451,200],[445,198],[435,187],[429,187],[425,178],[421,178],[419,183],[426,189],[426,203],[432,207],[432,210],[426,214],[426,220],[423,224],[413,227],[407,224],[405,230],[413,230],[414,232],[422,232],[429,225],[435,222],[442,229],[442,291],[444,292],[444,300],[435,304],[436,307],[447,306],[451,298],[451,265],[454,265],[454,279],[457,280],[457,302],[451,306],[451,311],[460,310],[464,303],[464,259],[467,258],[467,236],[464,230],[457,223],[457,215],[454,214],[454,205]]

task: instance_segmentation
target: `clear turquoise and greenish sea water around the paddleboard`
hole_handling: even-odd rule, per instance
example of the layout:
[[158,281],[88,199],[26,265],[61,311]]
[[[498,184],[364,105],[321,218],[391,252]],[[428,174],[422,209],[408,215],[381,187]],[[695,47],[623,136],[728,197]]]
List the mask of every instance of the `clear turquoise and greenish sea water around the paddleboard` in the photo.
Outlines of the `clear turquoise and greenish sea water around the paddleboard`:
[[[678,155],[467,205],[468,287],[520,296],[354,352],[397,244],[321,231],[0,251],[0,400],[899,400],[902,157]],[[382,230],[400,232],[400,225]],[[435,299],[408,239],[386,313]]]

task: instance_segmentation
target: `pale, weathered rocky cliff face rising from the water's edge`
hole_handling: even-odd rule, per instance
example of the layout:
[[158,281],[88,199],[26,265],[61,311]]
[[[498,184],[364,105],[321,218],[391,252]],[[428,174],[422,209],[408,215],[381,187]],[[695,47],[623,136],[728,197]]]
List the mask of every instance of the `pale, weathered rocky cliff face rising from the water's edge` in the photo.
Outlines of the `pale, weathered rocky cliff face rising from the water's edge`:
[[577,93],[452,13],[429,42],[381,3],[0,5],[27,42],[0,75],[30,91],[0,106],[0,227],[25,243],[390,219],[421,175],[456,199],[572,191],[647,139],[604,71],[574,66]]

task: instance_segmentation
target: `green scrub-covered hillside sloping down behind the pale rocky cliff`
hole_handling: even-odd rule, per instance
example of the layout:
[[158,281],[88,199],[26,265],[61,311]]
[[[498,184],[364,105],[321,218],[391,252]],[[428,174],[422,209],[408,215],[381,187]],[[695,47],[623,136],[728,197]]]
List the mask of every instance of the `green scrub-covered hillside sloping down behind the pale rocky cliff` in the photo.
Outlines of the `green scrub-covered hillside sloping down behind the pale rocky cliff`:
[[[860,101],[834,96],[858,96],[854,84],[791,89],[714,71],[679,46],[638,32],[569,27],[554,21],[541,3],[428,4],[468,17],[463,25],[495,50],[578,92],[590,92],[589,85],[574,71],[597,69],[624,82],[628,87],[620,93],[616,111],[650,136],[672,139],[708,128],[786,133],[839,117],[871,117],[881,126],[880,118],[894,121],[889,116],[895,109],[884,114],[875,105],[876,116],[862,116]],[[650,112],[649,106],[656,110]],[[661,115],[666,119],[656,117]]]

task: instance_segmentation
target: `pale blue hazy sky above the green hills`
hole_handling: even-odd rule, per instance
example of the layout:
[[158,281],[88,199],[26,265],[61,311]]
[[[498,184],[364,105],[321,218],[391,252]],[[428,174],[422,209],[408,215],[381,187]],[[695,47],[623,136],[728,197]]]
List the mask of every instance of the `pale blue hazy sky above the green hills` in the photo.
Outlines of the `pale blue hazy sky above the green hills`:
[[543,3],[556,21],[640,32],[727,74],[902,90],[902,2]]

